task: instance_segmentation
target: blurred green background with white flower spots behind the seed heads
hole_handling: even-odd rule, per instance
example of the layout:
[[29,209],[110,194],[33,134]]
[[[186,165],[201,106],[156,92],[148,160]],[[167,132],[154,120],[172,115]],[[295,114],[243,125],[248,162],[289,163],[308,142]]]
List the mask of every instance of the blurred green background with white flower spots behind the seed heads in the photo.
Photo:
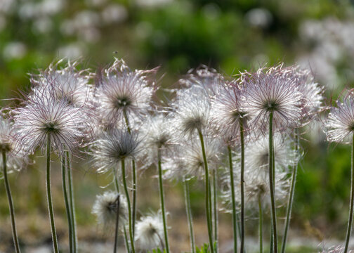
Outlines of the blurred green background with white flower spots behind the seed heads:
[[[124,58],[133,69],[160,66],[159,75],[164,77],[159,83],[163,87],[176,84],[182,74],[200,64],[230,76],[266,63],[299,63],[309,67],[315,80],[325,86],[325,103],[330,105],[354,82],[354,6],[339,0],[1,0],[2,106],[11,105],[13,101],[6,99],[16,98],[18,91],[28,89],[27,73],[64,57],[81,58],[81,65],[92,70],[112,63],[113,57]],[[291,236],[314,238],[327,245],[333,239],[343,240],[346,231],[350,147],[329,145],[321,125],[321,121],[311,124],[304,133],[304,158],[296,185],[290,240]],[[41,159],[36,160],[25,171],[11,175],[20,238],[29,245],[50,239],[41,164]],[[103,191],[100,186],[109,179],[96,175],[86,161],[78,160],[74,166],[79,238],[105,241],[110,236],[96,227],[91,205],[95,195]],[[142,177],[142,211],[158,207],[157,190],[149,188],[148,183],[155,180],[153,174],[152,169]],[[59,179],[59,167],[55,175]],[[54,188],[63,235],[66,223],[60,180],[55,181]],[[142,194],[145,188],[153,197]],[[178,226],[179,219],[185,219],[183,190],[178,183],[166,188],[172,227]],[[192,197],[192,205],[195,221],[200,220],[197,243],[201,245],[206,241],[204,197],[198,183],[195,188],[199,190]],[[280,214],[284,216],[284,212]],[[221,215],[221,242],[232,237],[229,222],[228,214]],[[2,183],[0,224],[1,251],[11,245]],[[256,223],[253,226],[248,233],[256,235]],[[176,250],[188,249],[187,235],[186,224],[172,230]],[[64,235],[62,238],[65,243]]]

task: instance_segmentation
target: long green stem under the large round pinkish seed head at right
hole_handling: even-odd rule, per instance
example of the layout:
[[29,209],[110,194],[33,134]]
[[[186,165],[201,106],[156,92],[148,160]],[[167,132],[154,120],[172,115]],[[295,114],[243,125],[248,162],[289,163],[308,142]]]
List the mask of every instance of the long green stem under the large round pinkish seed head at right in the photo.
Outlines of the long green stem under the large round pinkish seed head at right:
[[269,186],[270,186],[270,204],[272,207],[272,224],[273,224],[273,247],[274,253],[277,253],[277,214],[275,211],[275,197],[274,197],[274,160],[273,156],[273,112],[269,115]]

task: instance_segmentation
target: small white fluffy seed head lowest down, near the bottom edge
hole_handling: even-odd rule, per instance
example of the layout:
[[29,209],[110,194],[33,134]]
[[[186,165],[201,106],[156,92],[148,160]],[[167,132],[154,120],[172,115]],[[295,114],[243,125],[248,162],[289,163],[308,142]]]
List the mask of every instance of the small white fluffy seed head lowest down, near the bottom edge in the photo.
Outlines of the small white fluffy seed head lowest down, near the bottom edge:
[[164,224],[161,215],[150,214],[136,223],[136,241],[140,249],[164,248]]

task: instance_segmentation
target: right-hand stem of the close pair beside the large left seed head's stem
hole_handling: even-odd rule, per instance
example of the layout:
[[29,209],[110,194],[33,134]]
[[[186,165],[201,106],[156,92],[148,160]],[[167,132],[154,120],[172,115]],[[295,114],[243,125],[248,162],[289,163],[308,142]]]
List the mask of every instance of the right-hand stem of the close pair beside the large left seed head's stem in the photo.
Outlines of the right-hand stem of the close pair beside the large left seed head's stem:
[[66,155],[66,166],[67,166],[67,185],[69,188],[69,201],[70,201],[70,214],[72,222],[72,249],[73,252],[77,252],[77,233],[76,233],[76,214],[75,214],[75,202],[74,202],[74,186],[72,183],[72,168],[70,162],[69,151],[65,151]]

